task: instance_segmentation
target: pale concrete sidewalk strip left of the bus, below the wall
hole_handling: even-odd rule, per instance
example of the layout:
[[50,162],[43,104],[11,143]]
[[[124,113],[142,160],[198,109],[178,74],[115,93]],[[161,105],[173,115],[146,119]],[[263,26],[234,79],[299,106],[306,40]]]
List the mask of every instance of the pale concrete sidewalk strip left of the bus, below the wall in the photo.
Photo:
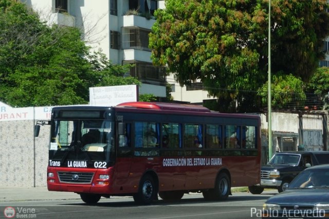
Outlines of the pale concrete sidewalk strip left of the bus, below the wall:
[[48,191],[47,187],[3,187],[0,188],[0,204],[22,200],[66,200],[80,199],[74,192]]

